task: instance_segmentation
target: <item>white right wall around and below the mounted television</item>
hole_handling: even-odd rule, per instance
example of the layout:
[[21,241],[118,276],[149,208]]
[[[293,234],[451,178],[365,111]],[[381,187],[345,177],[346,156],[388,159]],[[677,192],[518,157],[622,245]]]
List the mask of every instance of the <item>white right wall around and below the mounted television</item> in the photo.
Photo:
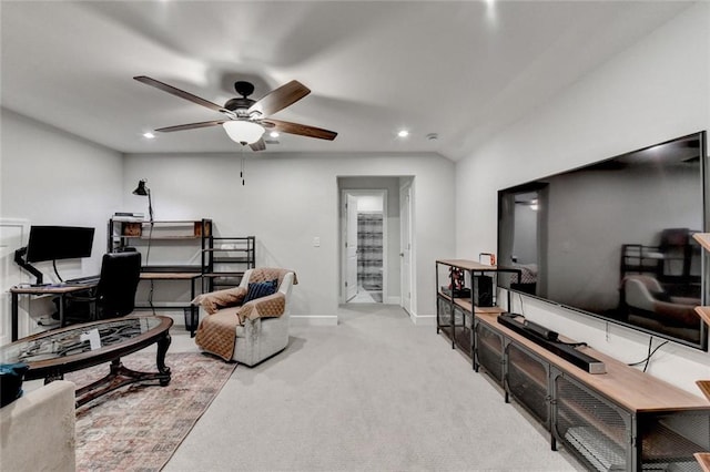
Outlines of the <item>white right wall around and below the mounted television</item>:
[[[458,256],[495,250],[498,189],[710,129],[709,71],[710,4],[700,2],[459,162]],[[646,357],[638,331],[528,298],[523,312],[621,361]],[[699,394],[709,365],[708,353],[671,343],[648,371]]]

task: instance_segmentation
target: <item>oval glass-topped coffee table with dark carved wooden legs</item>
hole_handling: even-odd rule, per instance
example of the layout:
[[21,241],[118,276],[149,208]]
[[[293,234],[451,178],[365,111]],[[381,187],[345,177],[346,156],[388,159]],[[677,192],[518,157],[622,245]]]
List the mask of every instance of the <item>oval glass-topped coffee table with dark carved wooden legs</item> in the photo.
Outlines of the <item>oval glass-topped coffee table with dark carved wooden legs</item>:
[[[44,383],[62,379],[64,373],[111,362],[109,374],[77,390],[77,407],[133,382],[158,380],[170,383],[165,352],[170,347],[173,320],[164,316],[128,316],[102,321],[72,325],[40,332],[0,347],[0,363],[24,362],[26,380],[44,379]],[[121,357],[158,343],[156,372],[139,372],[125,368]]]

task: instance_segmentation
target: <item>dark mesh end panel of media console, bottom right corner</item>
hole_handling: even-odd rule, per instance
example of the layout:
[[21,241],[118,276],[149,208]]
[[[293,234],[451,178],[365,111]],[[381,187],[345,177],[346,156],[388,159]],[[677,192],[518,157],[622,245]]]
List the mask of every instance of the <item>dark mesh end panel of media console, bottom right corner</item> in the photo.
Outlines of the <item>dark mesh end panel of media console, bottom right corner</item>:
[[710,452],[710,412],[677,411],[640,414],[639,470],[699,471],[693,453]]

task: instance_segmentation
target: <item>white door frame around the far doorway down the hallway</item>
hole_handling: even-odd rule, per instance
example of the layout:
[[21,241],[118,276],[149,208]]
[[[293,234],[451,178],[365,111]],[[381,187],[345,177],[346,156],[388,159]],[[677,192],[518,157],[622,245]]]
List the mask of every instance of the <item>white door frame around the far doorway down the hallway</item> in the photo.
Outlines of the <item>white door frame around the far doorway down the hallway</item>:
[[382,196],[382,300],[383,304],[387,302],[387,297],[389,294],[389,287],[387,283],[388,278],[388,250],[387,246],[389,245],[389,234],[387,230],[387,189],[386,188],[371,188],[371,189],[354,189],[354,188],[342,188],[341,189],[341,237],[339,237],[339,249],[341,249],[341,296],[339,302],[347,302],[347,290],[345,287],[345,281],[347,280],[347,250],[345,250],[345,242],[347,240],[347,211],[345,209],[345,204],[347,202],[347,196],[352,195],[355,197],[359,196]]

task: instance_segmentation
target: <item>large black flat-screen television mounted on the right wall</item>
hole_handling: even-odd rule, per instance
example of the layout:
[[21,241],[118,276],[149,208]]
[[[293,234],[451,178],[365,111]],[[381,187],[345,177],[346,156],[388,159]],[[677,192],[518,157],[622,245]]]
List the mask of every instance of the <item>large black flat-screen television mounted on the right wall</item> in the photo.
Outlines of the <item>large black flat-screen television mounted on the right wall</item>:
[[500,287],[707,350],[706,132],[498,192]]

